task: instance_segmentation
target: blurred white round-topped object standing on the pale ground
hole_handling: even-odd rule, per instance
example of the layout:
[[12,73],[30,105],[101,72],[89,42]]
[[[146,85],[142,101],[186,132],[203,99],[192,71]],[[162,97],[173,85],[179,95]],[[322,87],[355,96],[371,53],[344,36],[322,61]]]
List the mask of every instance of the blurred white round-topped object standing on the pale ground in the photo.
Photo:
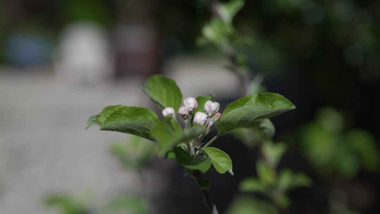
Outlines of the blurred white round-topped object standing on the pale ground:
[[68,83],[99,83],[111,77],[113,63],[107,35],[93,22],[75,22],[63,30],[54,70]]

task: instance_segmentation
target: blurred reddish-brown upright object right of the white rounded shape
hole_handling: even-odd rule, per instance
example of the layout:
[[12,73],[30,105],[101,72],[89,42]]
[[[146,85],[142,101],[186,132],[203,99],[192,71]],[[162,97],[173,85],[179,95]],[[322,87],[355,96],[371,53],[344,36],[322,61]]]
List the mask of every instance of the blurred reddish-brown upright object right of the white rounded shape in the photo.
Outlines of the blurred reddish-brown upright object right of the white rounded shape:
[[148,77],[158,73],[159,34],[152,14],[155,3],[119,1],[118,5],[119,23],[114,32],[115,76]]

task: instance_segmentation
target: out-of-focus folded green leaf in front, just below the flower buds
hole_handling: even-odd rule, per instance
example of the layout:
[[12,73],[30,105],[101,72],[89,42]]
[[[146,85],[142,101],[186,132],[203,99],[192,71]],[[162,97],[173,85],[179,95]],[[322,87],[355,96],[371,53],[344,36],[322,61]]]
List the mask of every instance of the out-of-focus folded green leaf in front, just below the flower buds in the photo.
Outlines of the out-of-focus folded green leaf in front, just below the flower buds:
[[159,154],[164,155],[170,148],[195,139],[204,132],[206,132],[206,127],[195,125],[182,133],[178,122],[173,117],[167,117],[154,127],[151,135],[158,143]]

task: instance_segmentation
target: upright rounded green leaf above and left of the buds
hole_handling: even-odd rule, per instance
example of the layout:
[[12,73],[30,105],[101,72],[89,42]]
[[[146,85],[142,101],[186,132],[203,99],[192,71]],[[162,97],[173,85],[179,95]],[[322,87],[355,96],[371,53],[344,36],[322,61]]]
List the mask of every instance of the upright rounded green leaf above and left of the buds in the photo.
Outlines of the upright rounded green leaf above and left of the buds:
[[161,110],[166,107],[172,107],[174,111],[177,112],[181,106],[181,90],[171,78],[162,75],[153,75],[146,80],[145,86],[139,85],[139,88]]

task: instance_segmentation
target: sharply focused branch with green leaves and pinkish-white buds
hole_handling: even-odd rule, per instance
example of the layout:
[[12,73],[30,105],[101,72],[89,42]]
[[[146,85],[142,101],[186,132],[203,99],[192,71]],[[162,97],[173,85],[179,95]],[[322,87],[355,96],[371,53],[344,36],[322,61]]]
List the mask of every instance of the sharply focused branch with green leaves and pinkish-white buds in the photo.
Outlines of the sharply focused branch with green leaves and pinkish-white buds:
[[[185,167],[185,175],[193,177],[203,193],[210,212],[217,213],[209,193],[210,180],[203,174],[214,166],[219,173],[232,172],[231,158],[222,150],[209,147],[217,137],[240,127],[260,126],[260,121],[294,109],[294,105],[279,94],[250,94],[232,102],[218,113],[214,97],[188,97],[182,104],[182,93],[176,82],[162,75],[154,75],[139,88],[160,109],[164,118],[150,109],[136,106],[112,105],[87,121],[86,128],[99,125],[100,130],[133,134],[157,142],[158,155],[175,158]],[[199,106],[199,107],[198,107]],[[182,128],[176,112],[184,120]],[[209,142],[203,138],[214,127],[218,134]]]

